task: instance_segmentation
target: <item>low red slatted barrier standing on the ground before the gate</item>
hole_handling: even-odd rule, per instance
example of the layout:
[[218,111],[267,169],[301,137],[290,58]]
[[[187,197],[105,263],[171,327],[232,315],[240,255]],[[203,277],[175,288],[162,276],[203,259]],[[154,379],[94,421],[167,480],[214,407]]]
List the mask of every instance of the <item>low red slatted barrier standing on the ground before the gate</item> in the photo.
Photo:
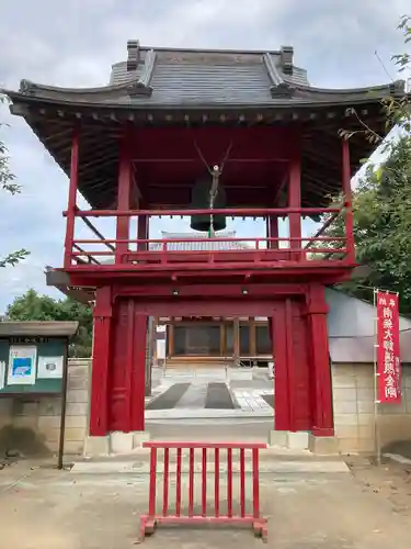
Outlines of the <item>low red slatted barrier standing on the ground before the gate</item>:
[[[161,523],[187,525],[198,523],[249,524],[253,527],[255,536],[266,540],[267,522],[260,515],[259,479],[259,450],[266,448],[265,444],[150,441],[145,442],[144,446],[150,448],[150,479],[148,513],[140,517],[141,541],[147,534],[152,534],[156,526]],[[158,467],[158,450],[163,453],[162,471],[159,471]],[[171,452],[171,450],[175,450],[175,453]],[[209,452],[213,453],[212,461],[208,460]],[[233,462],[233,452],[239,455],[238,462]],[[249,452],[251,452],[251,471],[247,471],[247,453]],[[173,457],[175,457],[174,473],[170,467]],[[185,457],[189,458],[187,462],[184,459]],[[199,458],[199,460],[196,460],[196,458]],[[227,486],[224,486],[220,471],[221,466],[225,463],[227,463]],[[212,497],[208,496],[210,490],[209,485],[207,485],[207,480],[209,480],[207,473],[209,472],[214,473]],[[235,482],[237,473],[238,482]],[[157,497],[158,475],[162,479],[160,505],[158,505]],[[170,503],[169,497],[172,485],[171,477],[175,479],[173,505]],[[195,482],[196,477],[199,478]],[[250,495],[247,494],[246,490],[249,478],[252,483],[252,494]],[[195,490],[196,485],[201,488],[198,492]],[[233,495],[236,494],[236,488],[239,489],[237,491],[239,496]],[[199,497],[196,498],[195,495],[197,494]],[[250,496],[252,496],[251,509],[247,505]],[[184,505],[186,500],[187,505]]]

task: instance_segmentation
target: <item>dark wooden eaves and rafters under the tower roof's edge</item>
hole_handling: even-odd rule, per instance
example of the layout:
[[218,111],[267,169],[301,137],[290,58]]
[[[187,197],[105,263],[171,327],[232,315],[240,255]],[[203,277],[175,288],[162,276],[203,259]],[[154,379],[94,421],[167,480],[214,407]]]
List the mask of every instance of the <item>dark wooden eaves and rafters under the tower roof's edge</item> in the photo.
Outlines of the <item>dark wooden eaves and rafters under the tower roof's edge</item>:
[[[112,89],[119,87],[112,87]],[[125,89],[124,86],[121,87]],[[300,93],[302,88],[300,88]],[[380,94],[377,93],[380,90]],[[307,179],[308,205],[327,205],[328,199],[315,202],[319,186],[323,197],[338,192],[341,188],[340,128],[362,131],[358,117],[381,136],[386,135],[386,116],[381,99],[387,97],[389,87],[368,90],[351,90],[350,93],[328,93],[315,90],[316,101],[305,99],[276,99],[270,103],[198,103],[198,104],[149,104],[147,98],[136,98],[127,103],[78,101],[78,94],[62,100],[27,96],[22,92],[7,92],[13,104],[14,114],[23,116],[56,163],[68,175],[70,169],[70,147],[72,128],[81,122],[81,148],[79,189],[89,203],[96,209],[111,208],[116,200],[115,184],[118,173],[118,137],[122,124],[133,121],[136,126],[185,126],[187,123],[202,125],[289,125],[301,124],[304,152],[302,177]],[[393,90],[395,91],[395,90]],[[39,92],[37,90],[37,92]],[[328,93],[326,100],[326,92]],[[391,89],[392,92],[392,89]],[[94,92],[93,92],[94,93]],[[100,91],[95,91],[98,97]],[[392,96],[391,96],[392,97]],[[403,93],[401,94],[403,97]],[[144,101],[144,102],[141,102]],[[354,108],[354,109],[353,109]],[[368,157],[375,145],[354,135],[351,139],[352,173],[361,166],[361,159]],[[321,189],[322,189],[321,187]],[[319,199],[318,199],[319,200]],[[311,203],[312,202],[312,203]]]

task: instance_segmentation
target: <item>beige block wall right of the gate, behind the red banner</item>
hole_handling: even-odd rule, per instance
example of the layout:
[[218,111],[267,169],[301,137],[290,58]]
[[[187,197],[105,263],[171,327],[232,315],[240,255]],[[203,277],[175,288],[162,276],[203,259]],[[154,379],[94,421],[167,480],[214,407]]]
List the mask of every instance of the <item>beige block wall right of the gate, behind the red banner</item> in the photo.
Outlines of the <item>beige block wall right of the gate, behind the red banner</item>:
[[[333,365],[335,435],[340,451],[373,452],[375,449],[374,367]],[[402,403],[378,405],[381,446],[411,439],[411,366],[402,367]]]

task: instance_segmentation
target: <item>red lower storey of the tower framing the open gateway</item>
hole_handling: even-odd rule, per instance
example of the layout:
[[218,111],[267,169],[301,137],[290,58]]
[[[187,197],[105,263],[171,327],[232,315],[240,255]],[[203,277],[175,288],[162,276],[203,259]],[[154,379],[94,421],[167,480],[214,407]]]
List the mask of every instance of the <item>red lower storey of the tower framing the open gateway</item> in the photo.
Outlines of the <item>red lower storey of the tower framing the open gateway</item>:
[[[134,432],[145,428],[145,349],[148,316],[184,314],[243,316],[252,314],[271,318],[273,354],[275,352],[275,428],[310,430],[332,435],[332,399],[328,354],[327,305],[323,287],[274,287],[270,300],[261,295],[247,300],[198,299],[204,289],[192,287],[193,299],[149,301],[133,296],[112,300],[112,305],[95,307],[95,348],[91,434],[111,430]],[[226,292],[230,293],[226,288]],[[238,289],[232,288],[232,293]],[[112,336],[110,335],[112,333]],[[312,358],[320,383],[312,383]]]

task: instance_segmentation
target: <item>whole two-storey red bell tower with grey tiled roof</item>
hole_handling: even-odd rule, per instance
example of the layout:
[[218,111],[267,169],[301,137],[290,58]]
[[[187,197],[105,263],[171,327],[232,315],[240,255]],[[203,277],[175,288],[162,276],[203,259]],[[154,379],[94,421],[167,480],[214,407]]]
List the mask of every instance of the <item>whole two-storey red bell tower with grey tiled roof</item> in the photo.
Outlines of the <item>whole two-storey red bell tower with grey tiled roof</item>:
[[[384,134],[369,89],[311,87],[293,48],[233,52],[128,43],[111,83],[8,91],[70,178],[64,265],[54,274],[95,296],[90,433],[145,429],[149,316],[264,316],[275,355],[275,429],[333,435],[324,288],[355,267],[351,177]],[[370,92],[372,91],[372,92]],[[90,204],[81,210],[80,192]],[[191,216],[206,249],[149,237],[156,216]],[[235,217],[266,234],[221,245]],[[326,236],[343,219],[340,237]],[[321,221],[304,235],[304,220]],[[286,234],[278,233],[286,221]],[[83,225],[90,233],[84,237]],[[103,228],[102,228],[103,227]]]

